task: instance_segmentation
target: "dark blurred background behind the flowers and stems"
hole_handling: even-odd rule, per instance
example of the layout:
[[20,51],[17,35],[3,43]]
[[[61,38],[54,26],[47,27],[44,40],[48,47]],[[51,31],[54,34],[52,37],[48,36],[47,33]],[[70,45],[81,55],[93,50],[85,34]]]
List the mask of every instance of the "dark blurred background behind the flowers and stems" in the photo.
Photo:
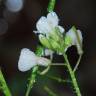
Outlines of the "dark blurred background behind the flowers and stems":
[[[38,37],[33,33],[36,30],[38,19],[47,14],[49,0],[25,0],[23,9],[13,13],[0,5],[0,67],[4,73],[12,96],[24,96],[30,71],[18,70],[18,59],[22,48],[36,50],[39,44]],[[76,77],[80,85],[82,96],[96,95],[96,2],[95,0],[57,0],[55,11],[60,18],[60,25],[68,31],[72,25],[82,30],[84,38],[84,55]],[[2,25],[2,27],[1,27]],[[70,62],[74,67],[77,53],[74,47],[68,50]],[[54,54],[53,62],[63,62],[63,57]],[[49,75],[69,78],[64,67],[52,67]],[[48,96],[43,89],[48,85],[58,96],[75,96],[70,84],[61,84],[48,79],[46,76],[37,78],[30,96]],[[1,93],[1,92],[0,92]],[[0,96],[3,96],[1,93]]]

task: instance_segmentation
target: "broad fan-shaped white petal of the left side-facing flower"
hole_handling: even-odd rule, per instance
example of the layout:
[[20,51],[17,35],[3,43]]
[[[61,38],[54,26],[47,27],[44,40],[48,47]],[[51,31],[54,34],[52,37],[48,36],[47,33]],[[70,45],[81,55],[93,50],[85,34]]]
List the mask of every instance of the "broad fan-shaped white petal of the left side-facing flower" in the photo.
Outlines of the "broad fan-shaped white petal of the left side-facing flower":
[[21,50],[18,69],[22,72],[30,70],[37,64],[37,57],[34,52],[27,48]]

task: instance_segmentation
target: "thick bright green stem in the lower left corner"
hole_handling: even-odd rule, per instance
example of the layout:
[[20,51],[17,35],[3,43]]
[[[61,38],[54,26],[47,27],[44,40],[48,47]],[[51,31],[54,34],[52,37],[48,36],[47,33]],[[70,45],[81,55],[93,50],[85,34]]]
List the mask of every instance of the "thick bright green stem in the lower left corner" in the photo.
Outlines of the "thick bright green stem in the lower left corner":
[[3,91],[3,93],[5,94],[5,96],[12,96],[11,92],[6,84],[6,81],[4,79],[3,73],[0,69],[0,90]]

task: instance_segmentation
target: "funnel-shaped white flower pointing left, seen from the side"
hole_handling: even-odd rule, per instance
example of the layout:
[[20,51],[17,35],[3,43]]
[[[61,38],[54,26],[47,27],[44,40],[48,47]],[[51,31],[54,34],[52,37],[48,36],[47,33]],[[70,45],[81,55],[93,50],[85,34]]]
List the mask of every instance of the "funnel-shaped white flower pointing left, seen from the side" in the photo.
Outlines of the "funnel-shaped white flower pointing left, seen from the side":
[[40,66],[48,66],[50,64],[50,60],[43,58],[43,57],[38,57],[35,55],[34,52],[30,51],[27,48],[23,48],[21,50],[20,58],[18,61],[18,69],[22,72],[28,71],[31,68],[33,68],[36,65]]

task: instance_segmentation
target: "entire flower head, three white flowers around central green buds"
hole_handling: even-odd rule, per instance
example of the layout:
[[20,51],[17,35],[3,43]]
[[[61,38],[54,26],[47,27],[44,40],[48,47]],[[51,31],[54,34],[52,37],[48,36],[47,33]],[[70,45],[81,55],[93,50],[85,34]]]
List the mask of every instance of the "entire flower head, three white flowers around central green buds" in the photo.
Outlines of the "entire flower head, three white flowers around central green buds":
[[[59,18],[55,12],[48,13],[47,17],[42,16],[36,24],[37,31],[34,32],[39,34],[41,44],[47,48],[45,55],[51,54],[52,56],[53,52],[62,55],[72,45],[76,46],[78,54],[81,55],[83,53],[81,31],[73,26],[65,33],[64,28],[58,24]],[[47,67],[50,63],[51,60],[38,57],[34,52],[24,48],[21,50],[18,69],[20,71],[27,71],[36,65]]]

